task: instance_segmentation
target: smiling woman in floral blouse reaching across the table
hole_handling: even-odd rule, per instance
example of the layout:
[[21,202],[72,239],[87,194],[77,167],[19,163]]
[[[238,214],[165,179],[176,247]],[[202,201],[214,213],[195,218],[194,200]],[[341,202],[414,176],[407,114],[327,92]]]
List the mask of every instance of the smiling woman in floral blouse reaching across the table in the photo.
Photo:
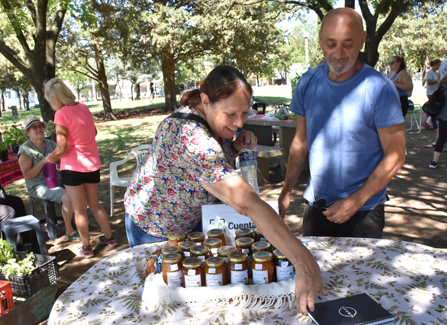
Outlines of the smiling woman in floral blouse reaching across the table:
[[151,149],[131,176],[124,197],[126,233],[131,247],[165,241],[172,231],[189,233],[200,227],[201,206],[217,197],[249,216],[294,264],[297,308],[307,314],[318,292],[327,295],[315,258],[232,168],[244,139],[257,144],[248,131],[233,140],[247,120],[252,94],[244,75],[230,66],[214,68],[199,89],[183,94],[179,112],[191,115],[160,123]]

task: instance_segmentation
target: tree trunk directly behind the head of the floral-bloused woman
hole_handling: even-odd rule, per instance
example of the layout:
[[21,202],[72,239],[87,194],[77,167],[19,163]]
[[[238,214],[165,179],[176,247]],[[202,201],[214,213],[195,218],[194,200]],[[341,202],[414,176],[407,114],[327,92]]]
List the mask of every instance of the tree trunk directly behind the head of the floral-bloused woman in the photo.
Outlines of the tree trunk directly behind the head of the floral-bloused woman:
[[174,112],[177,109],[176,97],[176,63],[172,52],[161,51],[161,72],[163,73],[164,84],[164,107],[162,112]]

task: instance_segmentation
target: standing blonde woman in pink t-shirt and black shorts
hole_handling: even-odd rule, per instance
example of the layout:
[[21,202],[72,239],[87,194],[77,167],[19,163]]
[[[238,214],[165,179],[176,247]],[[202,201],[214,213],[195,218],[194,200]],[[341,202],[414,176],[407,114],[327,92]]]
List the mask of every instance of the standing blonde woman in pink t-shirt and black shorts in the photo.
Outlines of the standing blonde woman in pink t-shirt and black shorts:
[[61,159],[62,183],[72,201],[76,227],[82,241],[79,253],[90,258],[94,252],[88,233],[87,206],[104,232],[104,236],[99,236],[99,242],[110,247],[118,245],[112,235],[108,215],[98,201],[101,163],[93,116],[87,105],[75,100],[75,95],[61,79],[51,79],[45,83],[45,98],[56,112],[54,124],[57,139],[57,146],[46,160],[54,163]]

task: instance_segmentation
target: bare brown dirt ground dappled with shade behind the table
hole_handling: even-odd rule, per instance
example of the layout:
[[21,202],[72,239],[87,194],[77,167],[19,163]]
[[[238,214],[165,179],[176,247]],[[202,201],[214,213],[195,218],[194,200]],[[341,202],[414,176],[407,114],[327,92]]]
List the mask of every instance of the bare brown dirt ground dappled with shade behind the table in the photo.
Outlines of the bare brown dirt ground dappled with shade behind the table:
[[[156,110],[148,115],[147,112],[133,113],[123,119],[151,119],[160,118],[161,112]],[[115,122],[122,123],[123,119]],[[127,121],[129,122],[129,121]],[[407,122],[409,127],[409,122]],[[411,131],[414,131],[411,130]],[[410,132],[411,132],[410,131]],[[447,248],[447,154],[442,154],[436,169],[428,168],[432,160],[433,149],[424,146],[435,140],[434,130],[408,133],[407,160],[404,167],[389,182],[389,201],[385,205],[385,229],[383,238],[404,240],[424,244],[435,248]],[[117,157],[121,159],[121,157]],[[270,183],[260,186],[261,197],[265,200],[276,200],[284,179],[280,176],[279,167],[270,171]],[[308,172],[304,171],[295,186],[293,202],[286,215],[286,222],[296,235],[301,235],[302,213],[304,208],[303,191],[307,182]],[[117,188],[115,192],[115,212],[110,218],[111,228],[118,238],[119,246],[110,248],[99,244],[100,231],[90,231],[91,243],[95,257],[85,259],[77,256],[80,242],[70,242],[62,232],[57,240],[48,241],[50,255],[56,256],[59,264],[59,290],[62,293],[70,284],[78,279],[96,262],[122,249],[128,248],[124,223],[124,188]],[[99,200],[107,212],[110,211],[109,176],[101,175],[98,188]],[[89,214],[91,221],[94,218]]]

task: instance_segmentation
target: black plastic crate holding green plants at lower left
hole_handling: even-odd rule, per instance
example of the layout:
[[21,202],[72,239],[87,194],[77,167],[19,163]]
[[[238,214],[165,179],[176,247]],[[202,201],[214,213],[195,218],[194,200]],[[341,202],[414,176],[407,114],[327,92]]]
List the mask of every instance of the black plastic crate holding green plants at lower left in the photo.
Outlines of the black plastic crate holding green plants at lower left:
[[[27,253],[14,252],[19,260],[26,258]],[[45,288],[50,283],[59,279],[58,270],[54,256],[34,254],[34,264],[36,267],[31,274],[24,276],[11,275],[8,279],[6,274],[0,273],[0,280],[11,282],[11,288],[15,296],[30,297],[40,289]]]

